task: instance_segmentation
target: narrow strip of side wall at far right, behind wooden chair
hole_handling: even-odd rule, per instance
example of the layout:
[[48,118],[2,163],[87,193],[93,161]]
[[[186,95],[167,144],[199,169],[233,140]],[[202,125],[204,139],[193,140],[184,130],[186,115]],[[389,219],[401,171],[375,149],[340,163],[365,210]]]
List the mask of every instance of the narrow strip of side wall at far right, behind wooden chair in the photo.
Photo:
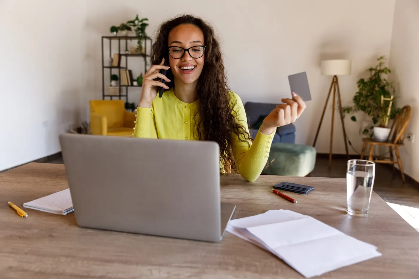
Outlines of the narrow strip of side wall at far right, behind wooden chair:
[[400,98],[398,106],[410,105],[412,116],[407,131],[414,142],[405,140],[400,147],[404,172],[419,181],[419,2],[397,0],[391,39],[390,68]]

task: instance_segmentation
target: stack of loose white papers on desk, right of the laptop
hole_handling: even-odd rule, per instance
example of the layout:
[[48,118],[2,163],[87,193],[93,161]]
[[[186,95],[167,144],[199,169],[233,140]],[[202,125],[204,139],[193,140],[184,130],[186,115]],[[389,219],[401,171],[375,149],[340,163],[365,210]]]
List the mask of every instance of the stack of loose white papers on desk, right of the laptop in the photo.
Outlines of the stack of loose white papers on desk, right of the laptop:
[[381,256],[374,245],[290,210],[230,220],[227,231],[270,251],[306,278]]

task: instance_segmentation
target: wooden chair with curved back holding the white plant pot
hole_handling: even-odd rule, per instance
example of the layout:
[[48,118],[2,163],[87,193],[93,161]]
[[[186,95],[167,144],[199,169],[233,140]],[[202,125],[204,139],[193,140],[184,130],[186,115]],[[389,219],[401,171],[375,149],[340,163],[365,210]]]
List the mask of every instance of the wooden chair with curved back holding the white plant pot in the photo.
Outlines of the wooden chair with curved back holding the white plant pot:
[[[404,136],[406,135],[406,127],[409,124],[411,114],[411,107],[410,106],[403,106],[400,113],[396,116],[391,125],[390,134],[388,135],[388,139],[385,142],[375,142],[373,139],[364,138],[362,141],[362,151],[361,151],[361,159],[364,158],[365,148],[367,144],[370,145],[368,160],[373,161],[375,163],[385,163],[385,164],[393,164],[393,178],[394,178],[394,165],[398,164],[398,168],[400,169],[401,178],[403,182],[406,182],[404,173],[403,173],[403,165],[400,159],[400,153],[398,152],[398,147],[403,145]],[[385,145],[388,146],[388,151],[390,152],[390,157],[376,157],[377,160],[373,160],[372,155],[372,148],[374,145]],[[393,149],[394,153],[396,154],[396,161],[393,157]],[[389,160],[386,160],[389,159]]]

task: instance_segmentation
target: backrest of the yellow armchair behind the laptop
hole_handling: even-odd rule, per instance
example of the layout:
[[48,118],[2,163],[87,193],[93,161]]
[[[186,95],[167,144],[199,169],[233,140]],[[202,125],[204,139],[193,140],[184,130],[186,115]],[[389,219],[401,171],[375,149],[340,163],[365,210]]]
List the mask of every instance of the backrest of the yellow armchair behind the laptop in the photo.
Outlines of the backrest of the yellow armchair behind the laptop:
[[124,100],[91,100],[90,111],[106,116],[108,128],[124,126]]

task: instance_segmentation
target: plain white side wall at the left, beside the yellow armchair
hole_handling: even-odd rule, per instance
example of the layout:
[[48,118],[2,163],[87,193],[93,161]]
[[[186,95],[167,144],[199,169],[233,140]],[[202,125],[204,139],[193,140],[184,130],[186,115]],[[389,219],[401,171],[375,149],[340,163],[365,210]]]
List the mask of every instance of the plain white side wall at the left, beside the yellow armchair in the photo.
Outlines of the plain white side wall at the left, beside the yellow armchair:
[[85,3],[0,1],[0,171],[60,151],[79,121]]

